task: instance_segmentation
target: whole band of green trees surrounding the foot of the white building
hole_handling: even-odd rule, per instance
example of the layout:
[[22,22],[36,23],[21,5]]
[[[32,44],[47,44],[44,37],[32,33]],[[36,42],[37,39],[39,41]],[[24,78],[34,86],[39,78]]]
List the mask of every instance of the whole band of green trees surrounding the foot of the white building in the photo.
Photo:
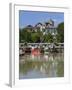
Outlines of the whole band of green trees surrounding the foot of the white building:
[[[55,37],[55,39],[54,39]],[[32,31],[32,28],[23,28],[19,30],[19,42],[64,42],[64,23],[60,23],[57,27],[57,35],[53,36],[51,33],[43,35],[43,32],[37,28],[37,32]]]

